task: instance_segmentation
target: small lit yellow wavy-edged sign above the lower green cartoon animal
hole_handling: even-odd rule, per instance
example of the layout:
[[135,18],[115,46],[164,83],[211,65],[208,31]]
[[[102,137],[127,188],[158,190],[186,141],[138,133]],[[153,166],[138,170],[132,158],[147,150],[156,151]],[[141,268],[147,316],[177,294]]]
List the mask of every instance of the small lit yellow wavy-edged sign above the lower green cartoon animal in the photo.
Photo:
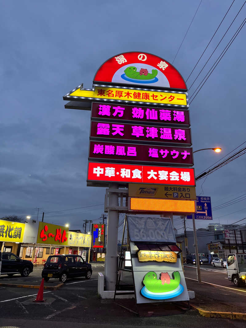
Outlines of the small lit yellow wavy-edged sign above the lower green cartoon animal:
[[157,262],[177,262],[177,254],[167,251],[139,251],[137,253],[140,262],[157,261]]

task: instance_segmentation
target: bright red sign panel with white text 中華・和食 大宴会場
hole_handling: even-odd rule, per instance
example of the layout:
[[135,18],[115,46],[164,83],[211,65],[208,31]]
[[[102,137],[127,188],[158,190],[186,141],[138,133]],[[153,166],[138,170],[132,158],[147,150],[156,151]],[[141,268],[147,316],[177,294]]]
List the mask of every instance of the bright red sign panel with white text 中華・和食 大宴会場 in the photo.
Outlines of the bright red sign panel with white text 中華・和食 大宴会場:
[[89,162],[88,181],[195,186],[195,174],[191,168]]

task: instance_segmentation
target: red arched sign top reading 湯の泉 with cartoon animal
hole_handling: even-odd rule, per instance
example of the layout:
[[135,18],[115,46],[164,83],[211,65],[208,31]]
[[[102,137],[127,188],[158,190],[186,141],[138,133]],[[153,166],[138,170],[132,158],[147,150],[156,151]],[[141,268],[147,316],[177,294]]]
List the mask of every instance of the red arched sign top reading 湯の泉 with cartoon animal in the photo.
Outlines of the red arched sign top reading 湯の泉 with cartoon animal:
[[108,59],[94,82],[187,90],[181,74],[167,60],[147,52],[125,52]]

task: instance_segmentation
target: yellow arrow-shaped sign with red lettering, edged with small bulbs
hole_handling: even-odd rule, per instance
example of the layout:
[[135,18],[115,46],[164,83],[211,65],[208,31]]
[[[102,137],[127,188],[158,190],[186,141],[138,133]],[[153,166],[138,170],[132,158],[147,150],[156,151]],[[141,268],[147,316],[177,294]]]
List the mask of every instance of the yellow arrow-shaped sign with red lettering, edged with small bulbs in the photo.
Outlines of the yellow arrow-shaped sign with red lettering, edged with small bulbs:
[[120,88],[95,87],[90,89],[76,89],[64,96],[64,100],[81,98],[88,100],[111,99],[117,101],[139,102],[139,103],[154,103],[166,105],[187,106],[186,92],[165,92],[165,91],[149,91],[149,90],[134,90]]

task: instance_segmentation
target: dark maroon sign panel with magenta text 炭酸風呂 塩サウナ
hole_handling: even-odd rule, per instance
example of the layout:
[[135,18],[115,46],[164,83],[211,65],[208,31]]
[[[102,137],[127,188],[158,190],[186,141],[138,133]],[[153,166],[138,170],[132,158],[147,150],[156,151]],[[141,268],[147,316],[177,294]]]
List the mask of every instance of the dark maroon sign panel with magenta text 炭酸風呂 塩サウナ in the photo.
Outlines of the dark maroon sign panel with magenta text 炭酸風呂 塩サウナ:
[[91,141],[89,158],[115,162],[155,162],[192,166],[192,148]]

